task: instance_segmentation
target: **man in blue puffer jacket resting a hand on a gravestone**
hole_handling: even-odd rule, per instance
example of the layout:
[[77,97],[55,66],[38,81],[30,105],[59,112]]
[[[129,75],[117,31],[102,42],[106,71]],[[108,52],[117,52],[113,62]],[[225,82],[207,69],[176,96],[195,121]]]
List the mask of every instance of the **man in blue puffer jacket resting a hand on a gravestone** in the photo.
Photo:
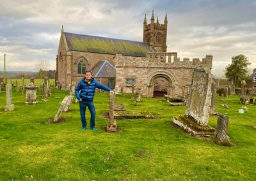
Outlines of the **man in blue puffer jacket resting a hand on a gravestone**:
[[91,71],[85,71],[84,78],[78,83],[76,87],[76,98],[79,100],[81,122],[83,126],[82,130],[84,131],[86,130],[86,119],[85,119],[86,106],[88,106],[88,109],[91,113],[90,129],[97,131],[97,129],[95,128],[96,112],[95,112],[95,107],[93,105],[93,98],[94,98],[94,93],[96,88],[108,91],[110,92],[110,94],[114,93],[114,91],[111,91],[109,87],[97,82],[94,78],[92,78]]

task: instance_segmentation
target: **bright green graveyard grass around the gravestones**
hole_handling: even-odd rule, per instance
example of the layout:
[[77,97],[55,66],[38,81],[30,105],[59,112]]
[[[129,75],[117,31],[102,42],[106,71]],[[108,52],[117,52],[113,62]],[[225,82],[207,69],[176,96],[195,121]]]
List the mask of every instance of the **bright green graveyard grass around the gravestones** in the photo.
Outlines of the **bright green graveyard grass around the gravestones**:
[[[0,180],[253,180],[256,170],[256,105],[238,113],[239,96],[216,101],[229,117],[228,136],[236,147],[200,140],[172,126],[185,106],[144,98],[134,106],[131,94],[116,95],[129,111],[148,111],[158,119],[117,120],[118,133],[106,133],[109,93],[95,95],[98,131],[81,130],[79,104],[62,113],[66,121],[49,124],[68,91],[24,105],[25,94],[12,89],[13,112],[4,112],[0,93]],[[221,104],[227,104],[225,109]],[[90,114],[86,113],[87,119]],[[218,117],[210,117],[216,128]]]

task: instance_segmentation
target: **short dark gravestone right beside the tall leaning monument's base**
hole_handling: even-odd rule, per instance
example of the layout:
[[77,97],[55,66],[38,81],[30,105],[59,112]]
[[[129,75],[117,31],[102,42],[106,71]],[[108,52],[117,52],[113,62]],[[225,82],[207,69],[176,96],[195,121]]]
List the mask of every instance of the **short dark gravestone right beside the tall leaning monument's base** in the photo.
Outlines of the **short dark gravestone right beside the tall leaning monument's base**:
[[221,145],[230,145],[230,139],[227,135],[228,130],[228,116],[220,114],[218,117],[216,128],[216,141]]

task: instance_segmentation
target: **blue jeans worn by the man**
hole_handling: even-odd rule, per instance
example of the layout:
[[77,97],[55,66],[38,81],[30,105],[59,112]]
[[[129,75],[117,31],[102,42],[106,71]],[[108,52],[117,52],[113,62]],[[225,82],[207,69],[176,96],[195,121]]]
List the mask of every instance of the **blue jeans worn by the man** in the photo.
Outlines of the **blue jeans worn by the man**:
[[91,113],[90,127],[91,128],[95,127],[95,115],[96,115],[95,107],[93,105],[93,101],[86,101],[86,100],[79,102],[82,126],[86,127],[86,119],[85,119],[86,106],[88,106],[88,109]]

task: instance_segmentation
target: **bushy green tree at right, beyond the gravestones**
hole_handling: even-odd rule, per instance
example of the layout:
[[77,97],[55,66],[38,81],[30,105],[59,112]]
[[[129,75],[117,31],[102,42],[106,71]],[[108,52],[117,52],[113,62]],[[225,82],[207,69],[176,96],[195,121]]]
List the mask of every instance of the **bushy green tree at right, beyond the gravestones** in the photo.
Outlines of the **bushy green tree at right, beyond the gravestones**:
[[238,87],[239,82],[248,76],[248,65],[250,64],[247,57],[242,54],[233,56],[232,63],[225,68],[226,78]]

